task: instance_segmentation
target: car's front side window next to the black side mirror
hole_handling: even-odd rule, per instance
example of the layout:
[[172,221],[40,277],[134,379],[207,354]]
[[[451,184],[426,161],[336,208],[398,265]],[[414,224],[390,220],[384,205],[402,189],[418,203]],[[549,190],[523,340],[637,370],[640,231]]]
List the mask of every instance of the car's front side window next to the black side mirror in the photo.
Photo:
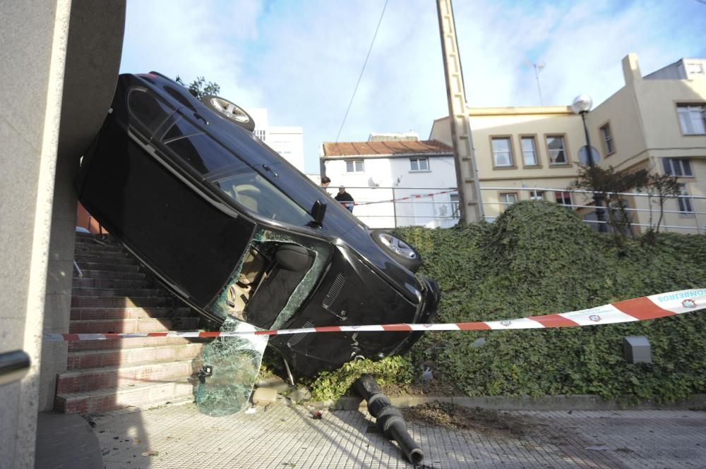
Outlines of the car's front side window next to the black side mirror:
[[206,177],[223,193],[262,217],[305,226],[311,215],[246,164],[234,164]]

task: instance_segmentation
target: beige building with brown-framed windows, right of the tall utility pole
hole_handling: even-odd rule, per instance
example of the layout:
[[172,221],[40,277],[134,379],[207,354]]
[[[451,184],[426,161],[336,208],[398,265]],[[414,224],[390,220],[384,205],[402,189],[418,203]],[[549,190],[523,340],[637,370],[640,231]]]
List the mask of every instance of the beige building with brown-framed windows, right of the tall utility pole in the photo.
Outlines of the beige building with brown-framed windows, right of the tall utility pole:
[[[643,77],[637,56],[626,56],[625,86],[586,116],[598,164],[671,173],[683,195],[706,195],[705,71],[706,60],[681,59]],[[486,219],[530,198],[592,203],[560,191],[575,179],[586,145],[581,116],[570,106],[469,108],[469,118]],[[430,139],[451,145],[448,117],[434,122]],[[628,197],[628,203],[638,209],[632,214],[639,230],[649,222],[647,197]],[[706,200],[671,200],[666,209],[663,225],[705,232],[706,215],[698,212],[706,212]]]

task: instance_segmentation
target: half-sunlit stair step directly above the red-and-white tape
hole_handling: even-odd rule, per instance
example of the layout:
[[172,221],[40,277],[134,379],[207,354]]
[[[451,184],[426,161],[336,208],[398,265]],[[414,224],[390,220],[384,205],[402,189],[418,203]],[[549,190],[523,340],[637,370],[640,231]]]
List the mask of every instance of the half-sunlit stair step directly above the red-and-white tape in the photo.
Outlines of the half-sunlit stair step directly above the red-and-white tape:
[[[198,317],[174,319],[91,319],[71,321],[69,334],[130,334],[133,332],[164,332],[198,329]],[[126,339],[133,340],[133,339]]]

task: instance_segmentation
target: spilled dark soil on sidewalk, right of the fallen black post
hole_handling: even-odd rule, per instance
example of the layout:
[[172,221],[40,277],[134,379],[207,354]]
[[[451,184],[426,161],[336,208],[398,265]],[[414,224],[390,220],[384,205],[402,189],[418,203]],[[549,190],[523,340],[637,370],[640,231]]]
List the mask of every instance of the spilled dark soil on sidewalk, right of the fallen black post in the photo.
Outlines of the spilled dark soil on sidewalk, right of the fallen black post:
[[522,437],[532,426],[529,420],[520,415],[445,402],[431,402],[401,410],[410,422],[456,430],[474,430],[491,434],[493,437]]

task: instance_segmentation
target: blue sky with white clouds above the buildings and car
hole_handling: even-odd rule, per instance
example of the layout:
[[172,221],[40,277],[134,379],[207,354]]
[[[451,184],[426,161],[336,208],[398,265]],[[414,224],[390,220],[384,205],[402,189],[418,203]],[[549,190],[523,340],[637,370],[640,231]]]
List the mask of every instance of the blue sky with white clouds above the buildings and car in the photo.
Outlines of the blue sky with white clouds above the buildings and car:
[[[384,14],[381,20],[381,13]],[[623,86],[621,60],[642,75],[706,58],[706,0],[454,0],[472,107],[594,106]],[[121,73],[158,71],[218,83],[270,126],[304,129],[306,173],[335,142],[381,21],[340,142],[419,133],[448,114],[433,0],[128,0]],[[530,66],[528,66],[528,63]]]

